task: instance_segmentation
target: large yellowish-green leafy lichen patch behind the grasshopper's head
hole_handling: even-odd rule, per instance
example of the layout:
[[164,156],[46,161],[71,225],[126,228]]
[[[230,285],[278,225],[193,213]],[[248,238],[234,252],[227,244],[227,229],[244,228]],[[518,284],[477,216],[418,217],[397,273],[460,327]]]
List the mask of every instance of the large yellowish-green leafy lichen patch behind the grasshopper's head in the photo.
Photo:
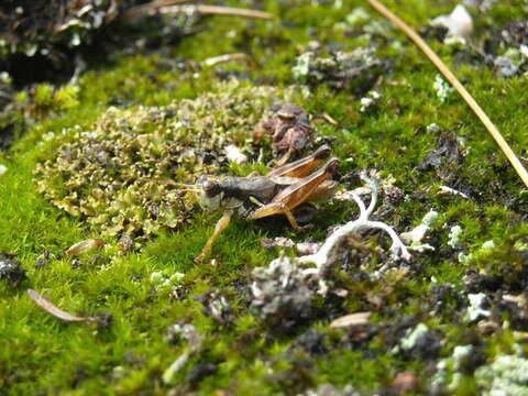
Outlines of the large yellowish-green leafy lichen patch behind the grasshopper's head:
[[233,81],[217,90],[163,108],[109,108],[92,128],[52,136],[64,143],[36,166],[38,191],[107,235],[145,238],[178,227],[191,205],[163,182],[226,170],[228,145],[254,155],[251,131],[277,100],[270,87]]

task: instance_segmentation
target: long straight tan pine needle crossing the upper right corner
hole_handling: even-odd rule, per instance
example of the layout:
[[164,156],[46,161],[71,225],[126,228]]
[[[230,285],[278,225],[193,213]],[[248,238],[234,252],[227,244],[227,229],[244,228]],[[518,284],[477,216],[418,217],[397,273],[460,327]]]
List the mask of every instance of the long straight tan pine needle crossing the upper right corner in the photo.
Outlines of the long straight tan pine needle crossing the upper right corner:
[[484,110],[479,106],[479,103],[473,99],[473,97],[468,92],[464,86],[457,79],[454,74],[443,64],[443,62],[438,57],[438,55],[427,45],[427,43],[416,33],[409,25],[396,16],[391,10],[385,6],[380,3],[377,0],[369,0],[372,7],[374,7],[380,13],[393,22],[396,26],[402,29],[405,34],[407,34],[410,40],[415,42],[416,45],[427,55],[427,57],[437,66],[440,73],[448,79],[449,82],[457,89],[457,91],[462,96],[468,106],[475,112],[476,117],[482,121],[487,131],[492,134],[495,142],[497,142],[501,150],[504,152],[506,157],[512,163],[512,166],[515,168],[519,177],[522,179],[525,185],[528,187],[528,173],[526,168],[520,163],[519,158],[509,147],[508,143],[504,140],[501,132],[494,125],[492,120],[486,116]]

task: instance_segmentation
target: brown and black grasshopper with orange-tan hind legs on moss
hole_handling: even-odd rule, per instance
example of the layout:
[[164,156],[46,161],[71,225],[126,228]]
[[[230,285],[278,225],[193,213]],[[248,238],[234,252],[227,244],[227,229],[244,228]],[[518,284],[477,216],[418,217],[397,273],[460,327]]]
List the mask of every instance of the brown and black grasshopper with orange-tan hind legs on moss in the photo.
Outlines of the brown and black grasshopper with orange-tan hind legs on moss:
[[209,255],[212,244],[229,226],[234,213],[248,220],[285,215],[296,230],[310,227],[299,226],[296,212],[306,207],[308,201],[328,198],[336,189],[338,183],[331,178],[338,170],[337,158],[328,160],[312,173],[329,156],[330,147],[323,145],[314,154],[285,164],[267,176],[254,173],[245,177],[200,176],[195,188],[189,190],[197,193],[198,204],[204,210],[223,210],[223,215],[195,262],[201,263]]

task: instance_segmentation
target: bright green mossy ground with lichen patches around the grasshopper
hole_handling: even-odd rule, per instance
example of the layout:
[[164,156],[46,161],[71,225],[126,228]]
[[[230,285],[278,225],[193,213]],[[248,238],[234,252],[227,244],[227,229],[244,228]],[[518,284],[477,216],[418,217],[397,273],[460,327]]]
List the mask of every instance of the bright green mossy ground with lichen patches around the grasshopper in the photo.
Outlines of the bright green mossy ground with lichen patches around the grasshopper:
[[[455,2],[386,2],[526,156],[526,4],[472,3],[473,43],[463,45],[428,24]],[[232,4],[275,19],[209,19],[177,44],[124,50],[73,85],[15,95],[16,139],[0,152],[0,394],[527,395],[528,198],[484,128],[366,2]],[[338,52],[354,55],[340,63]],[[254,67],[198,64],[230,53]],[[380,98],[362,108],[372,90]],[[333,199],[308,231],[237,219],[195,264],[220,213],[178,207],[174,189],[138,179],[263,172],[277,153],[253,130],[278,101],[337,121],[314,121],[319,138],[305,153],[331,143],[343,190],[377,170],[373,219],[403,233],[436,211],[421,241],[432,250],[395,261],[386,235],[364,232],[341,246],[326,295],[295,263],[288,274],[265,270],[298,253],[263,238],[322,242],[358,217],[353,200]],[[228,143],[249,162],[230,163]],[[63,254],[91,238],[106,246]],[[106,320],[62,321],[29,288]],[[330,327],[353,312],[371,317]]]

